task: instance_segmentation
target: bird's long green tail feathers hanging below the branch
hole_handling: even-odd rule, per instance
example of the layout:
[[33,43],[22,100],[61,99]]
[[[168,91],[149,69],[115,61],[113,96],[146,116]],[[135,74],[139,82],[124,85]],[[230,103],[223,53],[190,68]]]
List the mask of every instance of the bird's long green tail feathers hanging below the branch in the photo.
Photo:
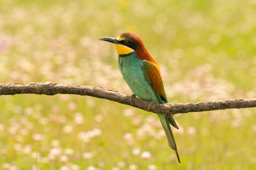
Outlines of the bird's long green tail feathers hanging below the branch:
[[177,146],[176,146],[176,143],[175,143],[175,139],[173,137],[173,134],[172,134],[172,129],[170,127],[170,124],[173,125],[173,127],[179,129],[179,127],[177,126],[177,124],[174,122],[173,118],[171,117],[168,117],[168,116],[165,116],[165,115],[161,115],[161,114],[157,114],[158,117],[160,118],[161,120],[161,123],[163,125],[163,128],[164,128],[164,132],[166,134],[166,137],[168,139],[168,144],[169,146],[175,151],[176,153],[176,156],[177,156],[177,159],[179,160],[180,162],[180,157],[179,157],[179,153],[178,153],[178,150],[177,150]]

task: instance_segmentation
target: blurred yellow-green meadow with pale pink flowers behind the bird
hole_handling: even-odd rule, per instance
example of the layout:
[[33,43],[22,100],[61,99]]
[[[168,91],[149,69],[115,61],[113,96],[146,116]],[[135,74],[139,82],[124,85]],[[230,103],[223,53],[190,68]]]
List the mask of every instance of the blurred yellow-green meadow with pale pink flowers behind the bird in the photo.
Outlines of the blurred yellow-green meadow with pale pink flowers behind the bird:
[[[0,82],[131,94],[104,36],[137,32],[168,101],[255,97],[255,1],[0,2]],[[0,169],[256,169],[255,108],[175,115],[181,164],[154,113],[72,95],[0,97]]]

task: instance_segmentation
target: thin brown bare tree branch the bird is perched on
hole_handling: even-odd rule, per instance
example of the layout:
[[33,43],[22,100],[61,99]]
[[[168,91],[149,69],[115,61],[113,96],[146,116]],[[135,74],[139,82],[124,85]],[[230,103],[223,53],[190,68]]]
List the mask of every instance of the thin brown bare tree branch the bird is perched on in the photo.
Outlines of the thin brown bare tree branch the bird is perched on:
[[[92,96],[118,103],[127,104],[147,110],[148,101],[137,97],[132,98],[120,92],[102,89],[99,87],[90,87],[83,85],[56,84],[52,82],[45,83],[20,83],[20,84],[0,84],[0,95],[15,94],[77,94],[81,96]],[[166,103],[152,104],[148,111],[161,113],[164,115],[174,115],[177,113],[188,113],[196,111],[226,110],[231,108],[253,108],[256,107],[256,99],[235,99],[226,101],[205,101],[193,103]]]

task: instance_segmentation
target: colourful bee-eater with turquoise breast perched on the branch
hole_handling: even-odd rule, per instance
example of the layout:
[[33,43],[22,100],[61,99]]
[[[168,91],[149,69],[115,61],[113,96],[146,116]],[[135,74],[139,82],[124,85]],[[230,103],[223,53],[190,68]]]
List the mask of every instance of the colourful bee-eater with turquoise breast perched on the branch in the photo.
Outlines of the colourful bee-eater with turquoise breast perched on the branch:
[[[124,80],[132,91],[132,97],[139,97],[145,101],[150,101],[147,109],[152,103],[164,104],[168,103],[164,90],[163,79],[160,67],[156,60],[150,55],[147,48],[134,32],[123,32],[117,38],[104,37],[99,38],[102,41],[108,41],[115,46],[118,54],[118,66]],[[180,162],[179,153],[173,137],[170,125],[179,129],[172,115],[157,114],[164,132],[168,139],[168,145],[172,148]]]

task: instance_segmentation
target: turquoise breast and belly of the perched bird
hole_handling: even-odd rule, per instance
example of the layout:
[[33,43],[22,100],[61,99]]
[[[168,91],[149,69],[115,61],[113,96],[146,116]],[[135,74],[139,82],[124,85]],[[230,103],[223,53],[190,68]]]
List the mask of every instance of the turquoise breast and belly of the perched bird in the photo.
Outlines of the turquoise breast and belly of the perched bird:
[[118,66],[133,94],[146,101],[153,100],[155,103],[159,103],[152,86],[145,78],[141,69],[143,62],[136,57],[136,52],[130,55],[119,56]]

